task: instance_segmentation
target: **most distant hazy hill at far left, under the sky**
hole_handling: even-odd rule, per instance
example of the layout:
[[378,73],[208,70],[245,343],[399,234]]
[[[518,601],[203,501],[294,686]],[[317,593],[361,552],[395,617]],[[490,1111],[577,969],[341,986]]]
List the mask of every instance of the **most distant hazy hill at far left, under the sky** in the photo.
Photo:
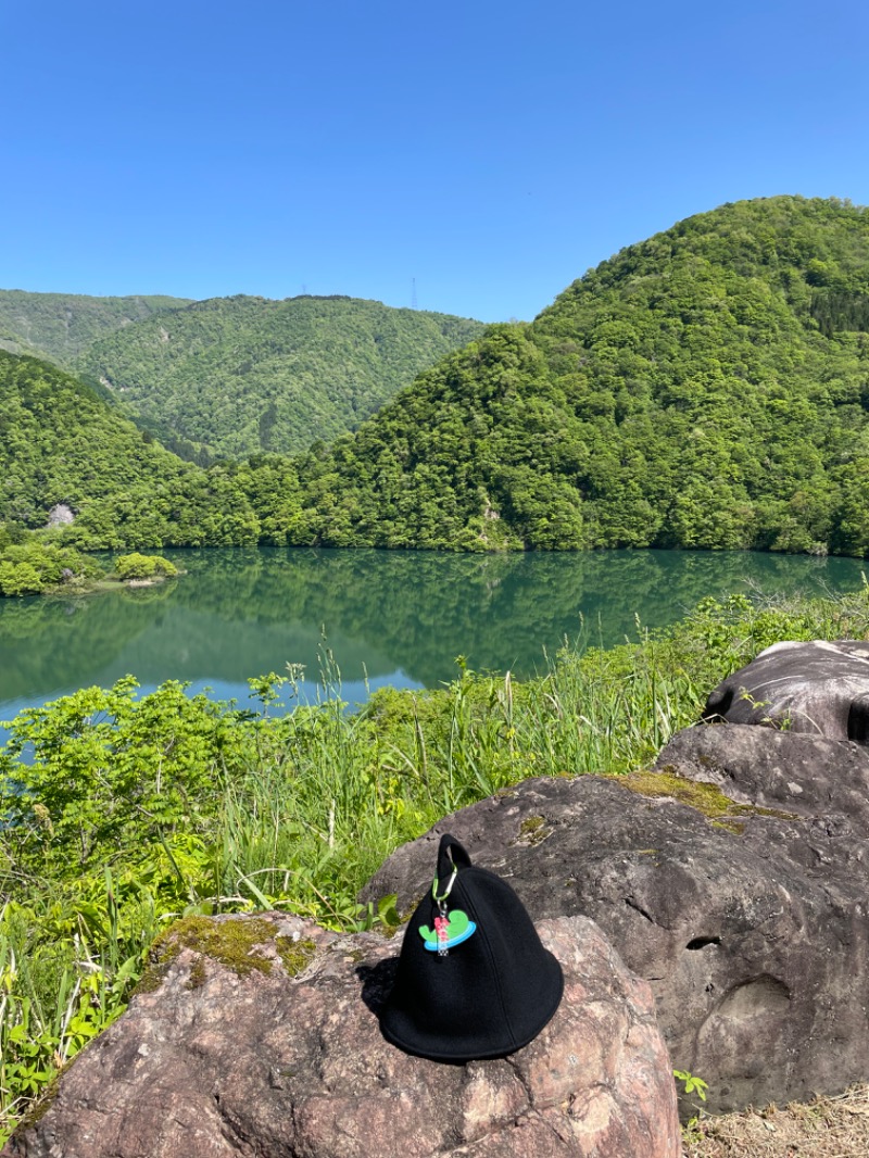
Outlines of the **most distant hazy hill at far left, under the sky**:
[[0,290],[0,349],[70,368],[97,338],[189,302],[189,298],[89,298]]

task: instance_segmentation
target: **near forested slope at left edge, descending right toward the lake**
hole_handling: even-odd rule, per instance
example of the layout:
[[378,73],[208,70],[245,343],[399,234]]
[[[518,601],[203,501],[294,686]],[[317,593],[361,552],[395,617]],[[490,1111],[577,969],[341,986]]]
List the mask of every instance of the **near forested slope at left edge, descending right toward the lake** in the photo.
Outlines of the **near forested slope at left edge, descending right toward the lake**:
[[246,496],[182,462],[70,374],[0,351],[0,521],[44,527],[64,504],[86,548],[256,542]]

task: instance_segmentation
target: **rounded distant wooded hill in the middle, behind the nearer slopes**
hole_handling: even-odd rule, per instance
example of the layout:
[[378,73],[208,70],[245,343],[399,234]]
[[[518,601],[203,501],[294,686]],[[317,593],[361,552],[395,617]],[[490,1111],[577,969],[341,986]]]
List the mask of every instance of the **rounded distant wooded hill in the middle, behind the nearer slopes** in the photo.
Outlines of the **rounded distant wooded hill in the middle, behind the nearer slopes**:
[[290,453],[352,430],[482,329],[351,298],[216,298],[116,330],[78,368],[168,445]]

